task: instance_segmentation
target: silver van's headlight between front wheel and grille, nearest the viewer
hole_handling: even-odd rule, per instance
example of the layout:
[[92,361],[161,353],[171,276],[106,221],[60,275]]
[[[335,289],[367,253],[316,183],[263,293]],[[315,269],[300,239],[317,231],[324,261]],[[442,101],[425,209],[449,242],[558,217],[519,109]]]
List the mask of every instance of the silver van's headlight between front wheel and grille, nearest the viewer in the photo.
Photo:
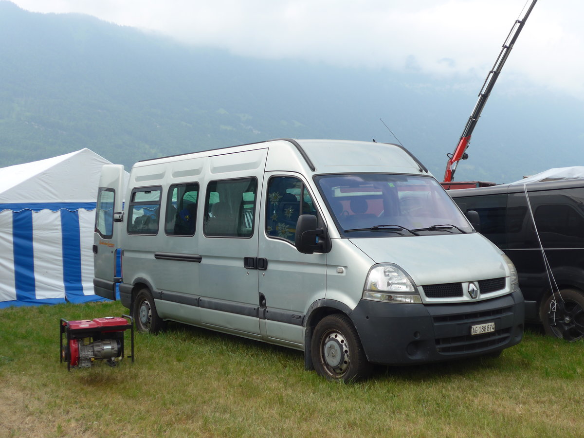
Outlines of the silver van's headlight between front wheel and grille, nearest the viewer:
[[409,275],[396,265],[376,265],[369,270],[363,298],[387,303],[422,303]]

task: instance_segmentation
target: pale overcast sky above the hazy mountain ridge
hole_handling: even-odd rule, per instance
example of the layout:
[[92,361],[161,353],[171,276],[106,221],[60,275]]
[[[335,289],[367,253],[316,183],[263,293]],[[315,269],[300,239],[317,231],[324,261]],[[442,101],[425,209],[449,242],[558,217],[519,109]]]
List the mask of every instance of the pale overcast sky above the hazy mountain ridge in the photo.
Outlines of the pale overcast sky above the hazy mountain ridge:
[[[11,0],[263,58],[416,71],[479,88],[532,0]],[[584,100],[584,1],[539,0],[505,64],[517,92]]]

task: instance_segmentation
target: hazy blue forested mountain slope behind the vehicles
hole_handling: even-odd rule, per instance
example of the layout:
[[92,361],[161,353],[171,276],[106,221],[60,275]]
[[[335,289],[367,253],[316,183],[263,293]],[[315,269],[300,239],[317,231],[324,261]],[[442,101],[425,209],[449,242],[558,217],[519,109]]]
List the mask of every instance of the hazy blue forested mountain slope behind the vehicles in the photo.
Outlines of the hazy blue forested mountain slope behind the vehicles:
[[[0,1],[0,60],[1,166],[84,147],[129,168],[279,137],[397,142],[383,119],[441,179],[482,85],[424,76],[415,65],[397,74],[238,57],[8,1]],[[582,102],[507,84],[503,68],[455,179],[510,182],[582,165]]]

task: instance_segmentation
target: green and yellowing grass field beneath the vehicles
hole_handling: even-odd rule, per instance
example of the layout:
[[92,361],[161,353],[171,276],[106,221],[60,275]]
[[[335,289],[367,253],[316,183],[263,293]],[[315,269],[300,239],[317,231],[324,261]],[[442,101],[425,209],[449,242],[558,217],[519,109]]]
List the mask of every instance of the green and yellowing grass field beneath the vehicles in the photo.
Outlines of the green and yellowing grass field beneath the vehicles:
[[[135,363],[67,372],[59,320],[119,303],[0,310],[0,437],[571,437],[584,433],[582,342],[528,331],[498,359],[377,367],[363,383],[301,352],[170,324]],[[126,343],[129,351],[129,342]]]

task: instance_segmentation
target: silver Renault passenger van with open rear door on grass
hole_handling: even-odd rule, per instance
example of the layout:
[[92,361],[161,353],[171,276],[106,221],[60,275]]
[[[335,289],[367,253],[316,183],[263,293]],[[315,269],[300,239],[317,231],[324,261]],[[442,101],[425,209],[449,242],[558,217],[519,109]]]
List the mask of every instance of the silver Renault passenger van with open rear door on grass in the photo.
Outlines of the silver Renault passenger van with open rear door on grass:
[[345,381],[522,339],[513,263],[398,145],[279,139],[151,159],[125,194],[122,171],[100,180],[94,285],[114,299],[118,284],[142,332],[178,321],[287,346]]

